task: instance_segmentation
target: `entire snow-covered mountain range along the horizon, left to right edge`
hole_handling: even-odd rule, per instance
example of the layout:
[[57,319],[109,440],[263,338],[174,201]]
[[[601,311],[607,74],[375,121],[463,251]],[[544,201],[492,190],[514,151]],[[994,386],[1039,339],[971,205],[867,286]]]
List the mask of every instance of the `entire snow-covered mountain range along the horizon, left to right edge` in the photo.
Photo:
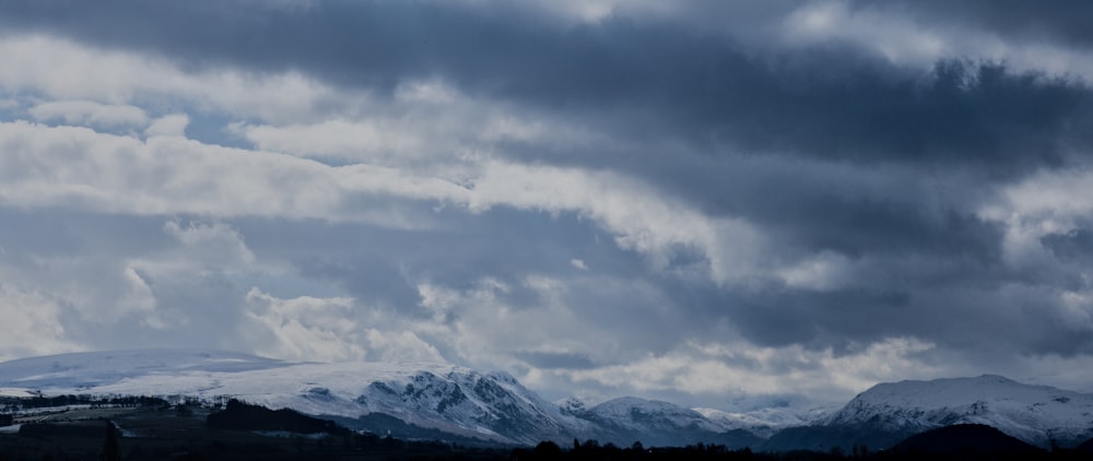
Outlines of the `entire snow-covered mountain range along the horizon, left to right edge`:
[[620,398],[548,402],[512,376],[426,363],[296,363],[212,350],[61,354],[0,363],[0,395],[239,399],[355,429],[494,444],[597,439],[628,446],[720,444],[772,451],[892,447],[957,425],[997,428],[1034,446],[1093,437],[1093,394],[1000,376],[878,385],[835,412],[732,413]]

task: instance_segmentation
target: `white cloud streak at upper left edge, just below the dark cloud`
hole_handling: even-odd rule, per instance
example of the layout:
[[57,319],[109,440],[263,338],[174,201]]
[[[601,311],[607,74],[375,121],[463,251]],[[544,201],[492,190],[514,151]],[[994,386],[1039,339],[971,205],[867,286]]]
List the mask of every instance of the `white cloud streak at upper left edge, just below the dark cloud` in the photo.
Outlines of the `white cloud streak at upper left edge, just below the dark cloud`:
[[318,107],[359,107],[357,96],[320,85],[297,72],[247,74],[210,69],[184,72],[168,59],[107,51],[43,35],[0,38],[0,87],[55,101],[110,105],[184,101],[201,110],[298,121]]

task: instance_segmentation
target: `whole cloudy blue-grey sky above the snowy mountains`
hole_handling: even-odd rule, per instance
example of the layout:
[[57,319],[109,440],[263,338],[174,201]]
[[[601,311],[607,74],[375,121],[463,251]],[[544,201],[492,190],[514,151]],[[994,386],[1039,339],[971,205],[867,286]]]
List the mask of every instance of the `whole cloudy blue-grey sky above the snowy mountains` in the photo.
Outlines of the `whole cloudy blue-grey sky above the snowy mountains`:
[[0,2],[0,359],[1093,391],[1084,1]]

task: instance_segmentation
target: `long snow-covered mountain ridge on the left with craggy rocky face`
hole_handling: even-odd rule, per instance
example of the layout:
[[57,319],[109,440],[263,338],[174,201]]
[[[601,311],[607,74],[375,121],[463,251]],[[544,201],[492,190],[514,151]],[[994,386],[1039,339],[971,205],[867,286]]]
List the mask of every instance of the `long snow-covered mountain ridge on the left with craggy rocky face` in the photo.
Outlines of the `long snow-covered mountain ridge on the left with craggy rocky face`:
[[[440,364],[293,363],[209,350],[62,354],[0,364],[13,393],[237,398],[254,404],[338,416],[383,414],[462,437],[538,444],[685,445],[747,440],[667,402],[619,399],[585,410],[546,402],[504,373]],[[732,444],[738,445],[738,444]]]

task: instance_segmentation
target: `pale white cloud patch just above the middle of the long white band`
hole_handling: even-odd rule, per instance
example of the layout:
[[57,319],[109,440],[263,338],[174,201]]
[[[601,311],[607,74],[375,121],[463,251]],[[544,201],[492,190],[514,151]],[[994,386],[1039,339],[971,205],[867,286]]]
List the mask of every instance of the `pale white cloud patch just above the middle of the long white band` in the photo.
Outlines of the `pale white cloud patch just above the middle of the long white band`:
[[360,95],[353,107],[317,121],[236,122],[230,130],[261,150],[448,178],[484,159],[503,158],[505,153],[494,147],[501,142],[555,147],[612,142],[556,115],[471,97],[436,79],[403,82],[393,99]]

